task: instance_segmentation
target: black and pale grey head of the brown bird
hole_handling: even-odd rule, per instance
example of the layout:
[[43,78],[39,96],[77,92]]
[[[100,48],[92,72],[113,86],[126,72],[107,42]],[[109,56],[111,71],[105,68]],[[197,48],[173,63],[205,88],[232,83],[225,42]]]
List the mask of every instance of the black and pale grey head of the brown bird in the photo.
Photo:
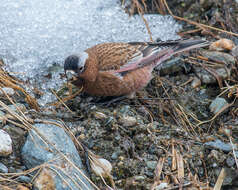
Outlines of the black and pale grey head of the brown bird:
[[77,74],[81,74],[85,69],[85,63],[88,58],[86,52],[80,54],[74,54],[68,56],[64,61],[64,71],[74,71]]

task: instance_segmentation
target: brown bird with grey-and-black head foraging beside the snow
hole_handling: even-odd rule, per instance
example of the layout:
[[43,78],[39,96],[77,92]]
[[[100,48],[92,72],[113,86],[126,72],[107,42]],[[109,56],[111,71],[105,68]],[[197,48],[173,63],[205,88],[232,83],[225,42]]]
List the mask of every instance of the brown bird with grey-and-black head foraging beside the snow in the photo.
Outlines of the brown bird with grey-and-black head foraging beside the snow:
[[74,71],[73,84],[89,95],[131,97],[150,82],[153,69],[163,61],[207,45],[205,40],[103,43],[67,57],[64,70]]

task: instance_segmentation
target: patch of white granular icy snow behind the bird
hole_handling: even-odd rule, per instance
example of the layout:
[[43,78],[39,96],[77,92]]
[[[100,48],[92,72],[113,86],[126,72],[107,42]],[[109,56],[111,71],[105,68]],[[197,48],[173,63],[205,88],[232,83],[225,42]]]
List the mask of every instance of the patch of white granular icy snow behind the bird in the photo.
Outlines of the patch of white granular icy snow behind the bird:
[[[154,39],[179,38],[181,26],[170,16],[145,18]],[[1,0],[0,57],[9,71],[46,92],[42,105],[54,99],[49,89],[65,82],[59,73],[66,56],[117,41],[149,41],[140,16],[129,17],[117,0]]]

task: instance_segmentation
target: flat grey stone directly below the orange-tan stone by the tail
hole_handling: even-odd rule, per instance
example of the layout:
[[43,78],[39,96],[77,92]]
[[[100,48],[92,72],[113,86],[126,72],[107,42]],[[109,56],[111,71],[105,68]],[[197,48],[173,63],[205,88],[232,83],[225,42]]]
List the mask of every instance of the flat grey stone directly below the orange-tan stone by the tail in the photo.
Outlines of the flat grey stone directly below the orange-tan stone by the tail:
[[201,51],[201,54],[212,61],[222,62],[225,63],[226,65],[235,64],[235,58],[228,53],[217,51]]

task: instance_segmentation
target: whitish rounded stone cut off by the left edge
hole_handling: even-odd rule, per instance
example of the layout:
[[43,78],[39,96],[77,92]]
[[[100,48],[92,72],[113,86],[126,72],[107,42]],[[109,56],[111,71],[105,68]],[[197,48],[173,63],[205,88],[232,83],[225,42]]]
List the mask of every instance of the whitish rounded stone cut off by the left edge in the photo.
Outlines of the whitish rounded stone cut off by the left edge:
[[4,130],[0,129],[0,156],[8,156],[12,153],[12,139]]

